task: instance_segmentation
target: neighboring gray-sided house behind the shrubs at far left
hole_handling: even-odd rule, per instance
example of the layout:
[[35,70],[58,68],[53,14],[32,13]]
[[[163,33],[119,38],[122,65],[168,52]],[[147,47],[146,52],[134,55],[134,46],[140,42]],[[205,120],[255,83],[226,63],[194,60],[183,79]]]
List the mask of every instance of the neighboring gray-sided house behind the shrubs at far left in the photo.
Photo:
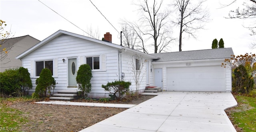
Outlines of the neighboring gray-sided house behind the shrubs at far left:
[[3,45],[0,47],[0,50],[2,51],[3,48],[8,49],[9,47],[11,47],[11,50],[8,51],[6,58],[0,61],[0,72],[4,72],[7,69],[21,67],[22,60],[17,60],[15,57],[39,42],[40,41],[38,39],[35,39],[30,35],[5,39]]

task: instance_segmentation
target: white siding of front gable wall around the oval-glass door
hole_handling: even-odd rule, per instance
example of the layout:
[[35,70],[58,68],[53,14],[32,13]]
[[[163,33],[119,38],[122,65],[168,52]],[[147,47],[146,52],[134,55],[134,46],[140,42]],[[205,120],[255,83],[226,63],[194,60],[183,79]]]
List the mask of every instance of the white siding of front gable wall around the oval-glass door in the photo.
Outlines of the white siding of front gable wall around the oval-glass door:
[[[52,58],[53,56],[54,59]],[[53,76],[56,83],[58,83],[54,91],[58,91],[60,89],[67,89],[68,86],[68,58],[78,58],[78,66],[80,66],[86,63],[86,56],[100,56],[100,70],[92,71],[91,93],[108,93],[104,91],[101,85],[119,80],[118,50],[104,44],[69,35],[57,37],[23,58],[24,68],[28,68],[32,78],[33,89],[31,91],[34,91],[36,86],[34,72],[36,60],[54,60]],[[63,58],[66,60],[65,62],[62,61]]]

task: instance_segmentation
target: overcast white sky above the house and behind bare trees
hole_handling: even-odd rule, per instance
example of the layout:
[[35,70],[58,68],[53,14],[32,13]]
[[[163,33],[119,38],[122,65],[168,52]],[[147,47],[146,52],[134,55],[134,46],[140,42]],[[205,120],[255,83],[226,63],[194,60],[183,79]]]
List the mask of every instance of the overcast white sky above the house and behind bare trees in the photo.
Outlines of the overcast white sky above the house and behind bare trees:
[[[89,27],[99,29],[101,37],[106,32],[112,34],[112,43],[120,44],[120,19],[132,21],[138,20],[138,7],[133,0],[91,0],[104,16],[114,25],[118,32],[96,10],[89,0],[40,0],[58,14],[64,16],[72,23],[87,31]],[[197,0],[194,0],[197,1]],[[221,4],[230,4],[233,0],[208,0],[204,6],[210,12],[211,21],[205,23],[205,29],[197,32],[197,39],[192,37],[183,40],[182,51],[211,49],[213,39],[223,38],[224,47],[232,47],[235,55],[246,52],[256,53],[256,49],[250,49],[256,36],[250,36],[250,31],[242,25],[250,25],[254,20],[226,19],[230,10],[237,7],[243,8],[242,2],[249,0],[237,0],[231,6],[222,7]],[[30,35],[40,41],[52,35],[59,29],[86,35],[70,22],[44,6],[38,0],[0,0],[0,19],[6,21],[14,37]],[[137,2],[137,1],[136,1]],[[170,4],[171,0],[164,0]],[[173,37],[178,37],[178,28],[173,29]],[[170,46],[169,52],[178,51],[178,41]],[[150,53],[154,50],[151,49]]]

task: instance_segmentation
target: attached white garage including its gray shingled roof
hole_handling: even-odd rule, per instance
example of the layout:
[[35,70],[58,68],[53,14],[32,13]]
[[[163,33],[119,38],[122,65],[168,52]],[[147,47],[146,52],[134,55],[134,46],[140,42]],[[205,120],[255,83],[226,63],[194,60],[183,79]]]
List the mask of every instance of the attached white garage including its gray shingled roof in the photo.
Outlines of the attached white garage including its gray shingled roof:
[[161,82],[154,84],[164,91],[231,91],[231,68],[221,64],[232,54],[232,48],[152,54],[160,58],[152,62],[154,69],[162,69]]

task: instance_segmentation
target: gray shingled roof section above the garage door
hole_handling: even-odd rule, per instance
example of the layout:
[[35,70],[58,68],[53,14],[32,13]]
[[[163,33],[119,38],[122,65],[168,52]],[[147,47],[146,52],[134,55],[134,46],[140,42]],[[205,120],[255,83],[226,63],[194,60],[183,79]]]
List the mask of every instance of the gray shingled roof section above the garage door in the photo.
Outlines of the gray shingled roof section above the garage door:
[[192,50],[181,52],[166,52],[155,53],[153,56],[160,59],[153,62],[165,62],[165,61],[179,61],[179,60],[203,60],[203,59],[216,59],[216,58],[230,58],[234,52],[232,48],[220,48],[220,49],[206,49],[206,50]]

